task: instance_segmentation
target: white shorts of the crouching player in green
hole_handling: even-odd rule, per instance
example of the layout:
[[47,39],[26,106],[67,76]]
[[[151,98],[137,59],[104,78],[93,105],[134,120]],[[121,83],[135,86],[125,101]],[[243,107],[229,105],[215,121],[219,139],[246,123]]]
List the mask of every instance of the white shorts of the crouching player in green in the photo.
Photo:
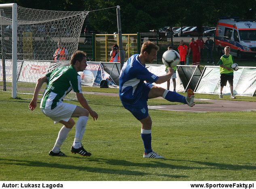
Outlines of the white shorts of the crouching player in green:
[[63,102],[56,106],[53,110],[41,109],[41,111],[44,115],[54,120],[54,123],[59,123],[60,120],[66,122],[70,120],[75,109],[76,105]]

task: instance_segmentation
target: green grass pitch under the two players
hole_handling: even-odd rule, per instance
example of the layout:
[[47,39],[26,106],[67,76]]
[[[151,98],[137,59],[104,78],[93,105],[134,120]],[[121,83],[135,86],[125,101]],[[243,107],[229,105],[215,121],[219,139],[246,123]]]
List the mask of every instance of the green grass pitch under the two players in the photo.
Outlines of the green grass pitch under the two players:
[[[165,159],[144,159],[140,123],[119,98],[86,94],[99,114],[97,121],[89,119],[83,138],[92,156],[70,152],[73,128],[61,148],[67,157],[51,157],[61,124],[54,125],[38,107],[31,112],[25,100],[31,98],[11,99],[11,93],[0,92],[1,181],[255,181],[255,112],[149,110],[152,147]],[[255,102],[256,97],[237,100]],[[166,103],[149,100],[150,105]]]

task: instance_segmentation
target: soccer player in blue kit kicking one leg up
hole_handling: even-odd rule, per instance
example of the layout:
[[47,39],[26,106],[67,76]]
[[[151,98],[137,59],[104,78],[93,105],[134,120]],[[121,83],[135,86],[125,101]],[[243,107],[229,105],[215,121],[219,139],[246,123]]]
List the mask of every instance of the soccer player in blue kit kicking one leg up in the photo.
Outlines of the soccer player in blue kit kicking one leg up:
[[125,62],[119,77],[120,100],[125,109],[129,110],[142,123],[141,137],[145,150],[144,158],[164,158],[154,152],[151,147],[152,120],[148,114],[148,99],[162,96],[170,102],[182,102],[190,107],[195,105],[194,92],[191,89],[188,89],[185,97],[175,91],[151,84],[166,82],[174,72],[169,68],[167,74],[157,76],[146,69],[146,62],[151,64],[157,58],[158,50],[159,47],[154,43],[144,42],[140,54],[134,54]]

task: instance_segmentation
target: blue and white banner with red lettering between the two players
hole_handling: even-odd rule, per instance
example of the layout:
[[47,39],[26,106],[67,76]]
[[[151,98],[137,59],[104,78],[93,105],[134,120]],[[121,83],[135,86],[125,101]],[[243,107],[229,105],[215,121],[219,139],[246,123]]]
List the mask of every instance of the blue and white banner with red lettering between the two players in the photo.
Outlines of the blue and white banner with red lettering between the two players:
[[101,62],[87,62],[86,69],[78,74],[81,76],[82,85],[99,87],[103,79],[107,80],[109,85],[116,85],[110,75],[104,71]]

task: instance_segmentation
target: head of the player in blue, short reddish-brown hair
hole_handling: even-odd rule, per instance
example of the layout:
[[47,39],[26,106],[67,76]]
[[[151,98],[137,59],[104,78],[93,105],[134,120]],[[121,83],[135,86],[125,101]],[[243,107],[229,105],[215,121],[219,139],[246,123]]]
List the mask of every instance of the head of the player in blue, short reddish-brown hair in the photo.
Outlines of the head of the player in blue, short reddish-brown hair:
[[152,63],[157,59],[157,51],[159,51],[159,47],[156,44],[146,41],[142,44],[140,54],[146,62]]

